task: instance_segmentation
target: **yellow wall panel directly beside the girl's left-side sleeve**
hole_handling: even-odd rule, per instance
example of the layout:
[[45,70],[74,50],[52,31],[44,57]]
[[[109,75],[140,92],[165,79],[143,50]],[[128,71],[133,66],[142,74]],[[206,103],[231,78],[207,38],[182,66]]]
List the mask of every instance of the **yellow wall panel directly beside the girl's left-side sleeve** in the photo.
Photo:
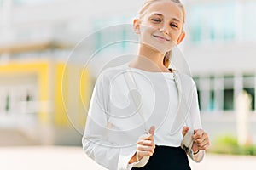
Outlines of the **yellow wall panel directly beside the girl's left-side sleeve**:
[[56,65],[55,123],[59,126],[84,128],[90,98],[90,76],[79,65]]

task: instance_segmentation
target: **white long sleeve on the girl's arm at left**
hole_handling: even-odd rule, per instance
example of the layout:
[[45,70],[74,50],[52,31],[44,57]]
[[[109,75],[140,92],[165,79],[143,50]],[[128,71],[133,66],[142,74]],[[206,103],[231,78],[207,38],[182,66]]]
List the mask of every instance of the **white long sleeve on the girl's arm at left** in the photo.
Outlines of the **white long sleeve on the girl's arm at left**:
[[108,78],[99,77],[90,100],[83,149],[87,156],[110,170],[131,169],[128,163],[136,148],[119,147],[108,141],[108,87]]

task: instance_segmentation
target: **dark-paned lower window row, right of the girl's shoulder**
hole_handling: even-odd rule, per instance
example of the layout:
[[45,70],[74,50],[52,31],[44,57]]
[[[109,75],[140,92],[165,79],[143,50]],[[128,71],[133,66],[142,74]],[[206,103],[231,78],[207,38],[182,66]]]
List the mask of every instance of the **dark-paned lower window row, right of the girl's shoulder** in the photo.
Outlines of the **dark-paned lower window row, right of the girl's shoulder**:
[[234,75],[194,77],[201,111],[234,111],[235,94],[245,90],[252,98],[251,109],[255,111],[256,77],[247,74],[242,77],[241,85],[235,84]]

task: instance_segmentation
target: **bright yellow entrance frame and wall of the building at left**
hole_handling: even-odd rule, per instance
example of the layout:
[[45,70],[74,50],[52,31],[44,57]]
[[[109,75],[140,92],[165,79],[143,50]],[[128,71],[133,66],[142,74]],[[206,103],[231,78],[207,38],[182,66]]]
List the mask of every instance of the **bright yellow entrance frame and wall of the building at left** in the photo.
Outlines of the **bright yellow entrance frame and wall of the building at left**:
[[[54,67],[54,68],[52,68]],[[51,99],[51,104],[53,105],[53,110],[49,113],[44,105],[40,106],[40,111],[38,113],[38,120],[41,123],[54,123],[55,126],[67,127],[70,122],[67,118],[66,106],[79,107],[75,108],[76,114],[78,116],[79,127],[84,127],[85,122],[85,109],[88,107],[89,97],[90,97],[90,77],[88,71],[78,69],[77,74],[80,76],[79,81],[79,102],[77,105],[70,105],[68,100],[66,102],[63,99],[68,99],[67,90],[70,86],[70,81],[68,74],[63,77],[64,71],[70,71],[73,67],[65,67],[65,63],[53,63],[49,60],[38,61],[38,62],[10,62],[8,65],[0,65],[0,76],[6,75],[36,75],[38,78],[38,99],[40,102],[49,101]],[[52,80],[54,79],[54,80]],[[49,83],[51,82],[51,83]],[[53,84],[51,87],[50,85]],[[52,89],[53,88],[53,89]],[[63,90],[63,91],[62,91]],[[64,92],[64,93],[63,93]],[[51,94],[53,93],[53,94]],[[66,96],[63,96],[66,95]],[[64,98],[65,97],[65,98]],[[54,114],[54,115],[52,115]]]

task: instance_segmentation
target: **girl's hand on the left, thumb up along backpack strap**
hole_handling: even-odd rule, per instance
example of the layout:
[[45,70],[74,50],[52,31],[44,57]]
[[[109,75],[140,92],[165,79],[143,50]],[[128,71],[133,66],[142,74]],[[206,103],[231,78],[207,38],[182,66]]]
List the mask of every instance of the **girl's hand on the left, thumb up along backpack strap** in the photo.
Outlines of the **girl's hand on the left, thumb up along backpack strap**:
[[153,156],[154,144],[154,126],[150,127],[148,134],[143,134],[137,141],[137,152],[131,157],[129,163],[140,161],[143,156]]

